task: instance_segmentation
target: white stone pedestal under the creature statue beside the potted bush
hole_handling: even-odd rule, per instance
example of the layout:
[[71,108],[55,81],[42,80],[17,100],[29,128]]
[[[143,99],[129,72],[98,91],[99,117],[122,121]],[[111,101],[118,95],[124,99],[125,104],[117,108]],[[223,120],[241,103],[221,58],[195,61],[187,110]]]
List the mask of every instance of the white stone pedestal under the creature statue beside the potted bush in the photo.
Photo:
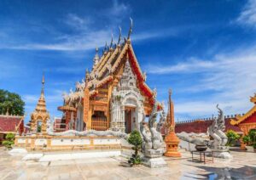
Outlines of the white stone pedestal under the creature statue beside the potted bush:
[[147,149],[144,152],[143,165],[150,168],[167,166],[163,159],[164,149]]

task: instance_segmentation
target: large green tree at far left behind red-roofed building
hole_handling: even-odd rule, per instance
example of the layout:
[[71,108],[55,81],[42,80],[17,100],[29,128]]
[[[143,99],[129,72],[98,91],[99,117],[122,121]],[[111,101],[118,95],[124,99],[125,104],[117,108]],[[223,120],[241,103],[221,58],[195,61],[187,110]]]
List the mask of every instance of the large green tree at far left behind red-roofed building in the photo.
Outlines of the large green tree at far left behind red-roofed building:
[[24,115],[24,101],[17,93],[0,89],[0,114],[9,111],[9,115]]

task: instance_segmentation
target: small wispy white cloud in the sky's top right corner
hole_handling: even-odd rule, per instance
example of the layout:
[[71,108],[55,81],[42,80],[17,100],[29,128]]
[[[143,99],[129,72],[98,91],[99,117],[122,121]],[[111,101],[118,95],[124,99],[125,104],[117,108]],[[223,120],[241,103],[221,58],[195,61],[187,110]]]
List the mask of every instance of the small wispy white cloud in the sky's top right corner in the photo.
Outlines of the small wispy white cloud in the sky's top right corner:
[[256,0],[247,1],[236,21],[241,25],[250,25],[256,28]]

